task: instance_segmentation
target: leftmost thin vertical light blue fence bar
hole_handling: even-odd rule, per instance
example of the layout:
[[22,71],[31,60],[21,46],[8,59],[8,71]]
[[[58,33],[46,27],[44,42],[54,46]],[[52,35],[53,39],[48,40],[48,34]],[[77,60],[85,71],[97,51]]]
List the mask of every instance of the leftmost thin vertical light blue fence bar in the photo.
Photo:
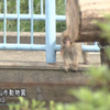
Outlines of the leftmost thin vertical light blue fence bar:
[[7,0],[4,0],[4,6],[3,6],[3,43],[7,43]]

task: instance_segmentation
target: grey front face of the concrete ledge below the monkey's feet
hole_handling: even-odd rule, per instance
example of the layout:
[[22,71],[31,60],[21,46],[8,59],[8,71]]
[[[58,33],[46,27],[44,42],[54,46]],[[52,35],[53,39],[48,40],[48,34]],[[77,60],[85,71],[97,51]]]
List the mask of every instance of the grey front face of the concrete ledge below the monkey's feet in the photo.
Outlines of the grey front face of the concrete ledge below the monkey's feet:
[[36,85],[73,84],[85,85],[87,77],[82,72],[68,73],[59,70],[21,70],[21,69],[1,69],[0,82],[28,82]]

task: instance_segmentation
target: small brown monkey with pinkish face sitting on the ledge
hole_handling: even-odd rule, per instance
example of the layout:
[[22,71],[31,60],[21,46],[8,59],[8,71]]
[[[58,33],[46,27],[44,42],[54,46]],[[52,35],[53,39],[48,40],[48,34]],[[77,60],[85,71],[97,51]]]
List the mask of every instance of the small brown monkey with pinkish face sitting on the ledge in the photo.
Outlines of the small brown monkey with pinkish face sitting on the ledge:
[[64,61],[65,72],[68,72],[69,68],[74,72],[77,72],[81,53],[85,64],[89,64],[88,54],[86,52],[82,52],[81,43],[73,43],[70,37],[68,36],[67,30],[62,34],[61,46],[61,54]]

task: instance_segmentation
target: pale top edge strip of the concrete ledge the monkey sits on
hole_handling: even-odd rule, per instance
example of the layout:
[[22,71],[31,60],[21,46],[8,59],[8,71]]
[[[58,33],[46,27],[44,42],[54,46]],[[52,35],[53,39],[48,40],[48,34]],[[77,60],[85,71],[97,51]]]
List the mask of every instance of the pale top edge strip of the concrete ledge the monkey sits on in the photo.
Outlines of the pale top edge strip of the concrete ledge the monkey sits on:
[[[91,65],[100,66],[99,63]],[[79,64],[78,70],[87,70],[90,65]],[[43,62],[0,62],[0,69],[63,70],[63,63],[46,64]]]

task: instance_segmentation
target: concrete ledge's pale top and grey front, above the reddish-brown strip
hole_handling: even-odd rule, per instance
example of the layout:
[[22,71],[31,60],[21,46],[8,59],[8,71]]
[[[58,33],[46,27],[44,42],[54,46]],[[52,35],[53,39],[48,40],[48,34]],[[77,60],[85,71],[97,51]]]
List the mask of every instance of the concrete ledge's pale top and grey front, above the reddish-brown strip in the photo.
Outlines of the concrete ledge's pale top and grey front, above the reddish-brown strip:
[[84,70],[89,65],[79,65],[77,73],[65,73],[63,64],[1,62],[0,82],[35,82],[35,84],[73,84],[84,85],[87,81]]

